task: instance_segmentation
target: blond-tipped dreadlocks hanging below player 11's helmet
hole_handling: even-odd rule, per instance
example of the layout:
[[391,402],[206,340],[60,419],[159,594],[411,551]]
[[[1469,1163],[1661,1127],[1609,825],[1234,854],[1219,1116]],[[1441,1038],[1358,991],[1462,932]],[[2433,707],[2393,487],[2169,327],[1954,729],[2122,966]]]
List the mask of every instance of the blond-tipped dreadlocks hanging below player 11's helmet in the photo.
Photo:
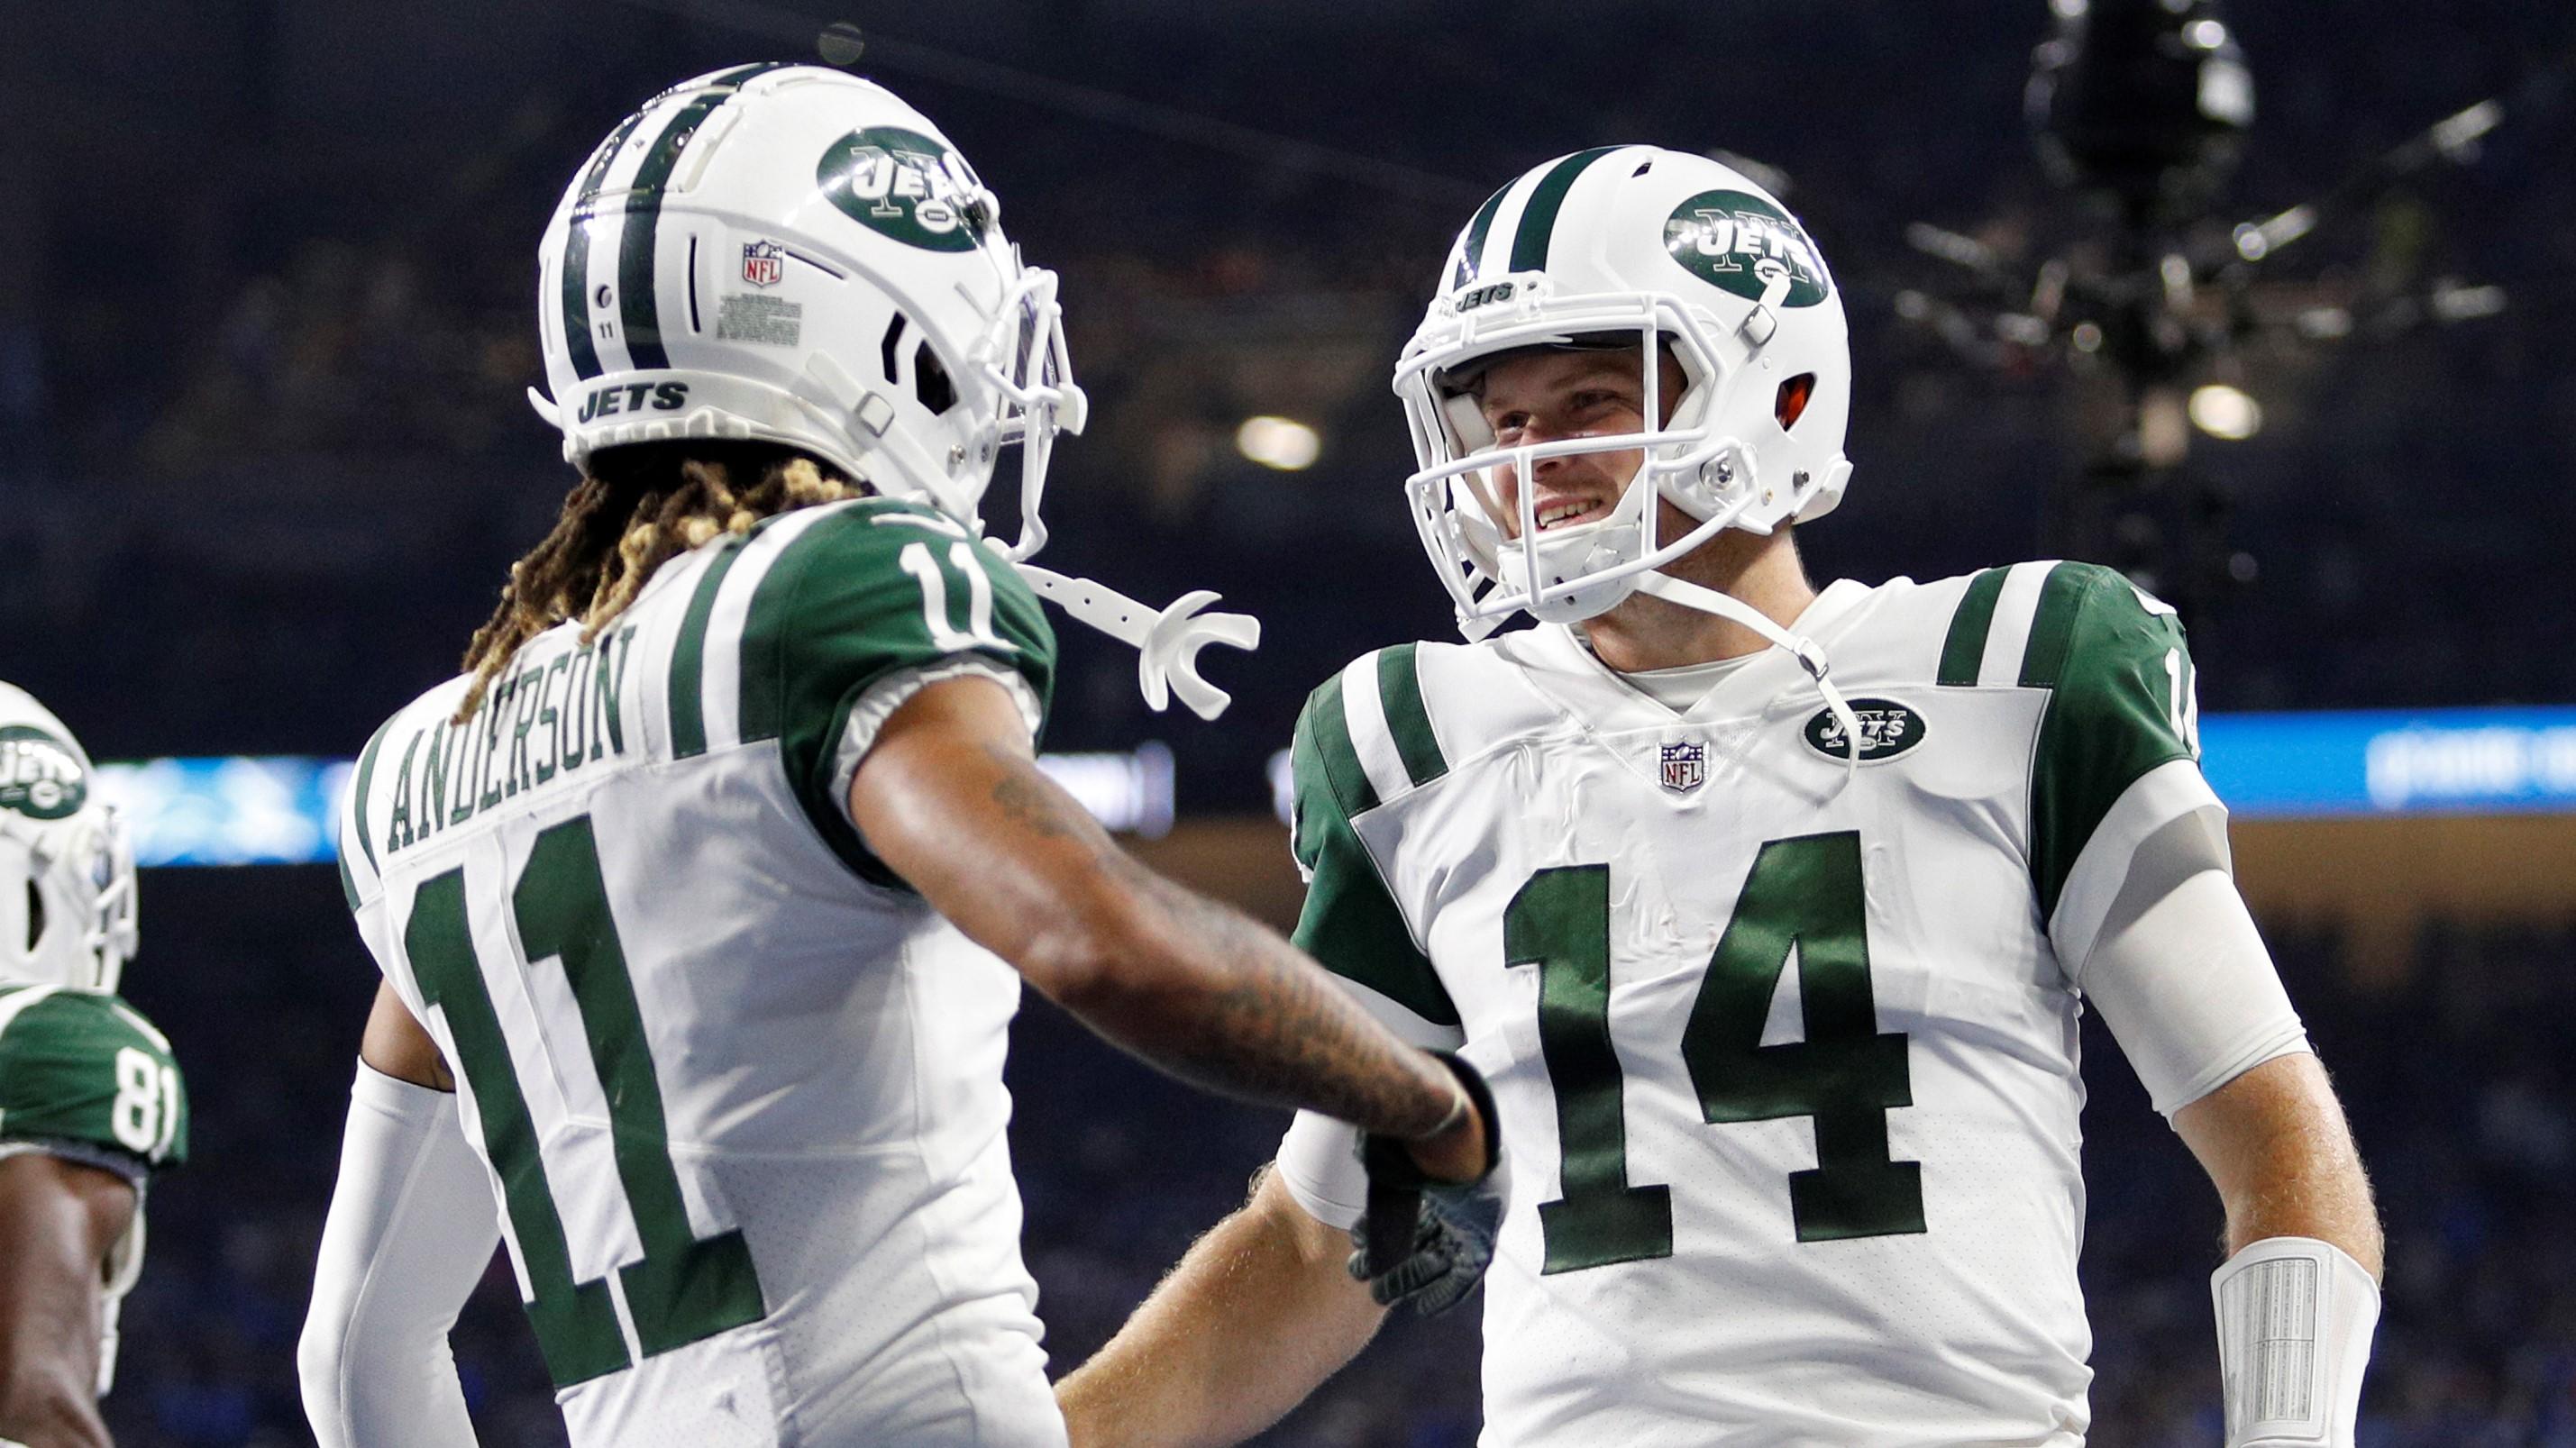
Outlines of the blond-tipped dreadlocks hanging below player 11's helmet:
[[[757,482],[742,487],[744,477]],[[510,564],[500,605],[474,631],[464,662],[474,683],[456,706],[456,724],[482,709],[520,644],[572,618],[582,621],[582,644],[590,644],[675,554],[721,533],[750,533],[778,513],[863,495],[866,487],[840,469],[775,443],[644,443],[592,453],[554,531]]]

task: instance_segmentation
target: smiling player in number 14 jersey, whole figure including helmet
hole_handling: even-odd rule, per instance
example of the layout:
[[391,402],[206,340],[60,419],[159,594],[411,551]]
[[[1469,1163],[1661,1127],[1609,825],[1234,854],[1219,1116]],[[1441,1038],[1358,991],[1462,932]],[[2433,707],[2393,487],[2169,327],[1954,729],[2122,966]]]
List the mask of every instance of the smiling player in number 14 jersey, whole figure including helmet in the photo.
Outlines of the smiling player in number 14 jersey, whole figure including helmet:
[[[1484,1443],[2081,1443],[2089,1000],[2226,1203],[2226,1440],[2349,1445],[2380,1229],[2174,611],[2076,562],[1814,590],[1850,381],[1801,224],[1654,147],[1494,193],[1396,366],[1471,642],[1309,701],[1296,940],[1502,1100]],[[1061,1384],[1074,1443],[1247,1438],[1455,1301],[1430,1211],[1345,1278],[1365,1198],[1301,1116]]]

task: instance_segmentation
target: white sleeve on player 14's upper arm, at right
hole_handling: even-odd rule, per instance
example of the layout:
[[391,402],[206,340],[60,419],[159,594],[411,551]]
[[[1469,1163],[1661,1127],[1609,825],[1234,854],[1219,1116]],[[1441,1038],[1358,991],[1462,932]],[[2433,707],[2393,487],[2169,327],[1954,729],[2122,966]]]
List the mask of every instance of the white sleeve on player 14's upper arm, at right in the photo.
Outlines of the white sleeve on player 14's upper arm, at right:
[[2308,1049],[2228,873],[2223,817],[2184,814],[2138,843],[2092,951],[2069,961],[2069,976],[2164,1116]]

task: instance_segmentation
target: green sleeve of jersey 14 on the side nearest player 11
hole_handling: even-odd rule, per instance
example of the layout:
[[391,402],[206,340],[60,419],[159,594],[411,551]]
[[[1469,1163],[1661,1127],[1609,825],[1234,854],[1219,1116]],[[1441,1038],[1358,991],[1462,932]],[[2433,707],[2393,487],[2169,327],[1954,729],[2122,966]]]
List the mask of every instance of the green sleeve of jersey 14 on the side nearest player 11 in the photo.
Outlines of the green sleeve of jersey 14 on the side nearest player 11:
[[[1327,696],[1334,714],[1329,729],[1321,719]],[[1334,675],[1306,701],[1288,752],[1296,776],[1291,848],[1311,876],[1306,907],[1296,922],[1296,948],[1332,974],[1365,984],[1432,1025],[1458,1025],[1458,1005],[1450,1002],[1430,956],[1414,946],[1404,912],[1396,910],[1368,845],[1350,827],[1350,814],[1342,809],[1340,788],[1327,768],[1324,745],[1340,732],[1340,675]],[[1347,732],[1340,732],[1340,747],[1347,755],[1347,768],[1358,773],[1360,760],[1350,755]]]

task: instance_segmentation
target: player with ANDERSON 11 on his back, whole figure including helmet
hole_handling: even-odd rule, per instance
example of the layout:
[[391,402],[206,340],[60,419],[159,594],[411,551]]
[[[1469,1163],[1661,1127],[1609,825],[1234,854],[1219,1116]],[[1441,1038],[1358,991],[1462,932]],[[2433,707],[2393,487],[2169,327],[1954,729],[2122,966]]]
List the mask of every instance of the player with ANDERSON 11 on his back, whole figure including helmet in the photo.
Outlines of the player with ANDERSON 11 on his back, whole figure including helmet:
[[1036,587],[1200,703],[1190,654],[1249,621],[1018,562],[1082,394],[1056,278],[922,113],[690,80],[574,175],[538,304],[580,484],[343,812],[384,987],[299,1350],[327,1448],[471,1443],[446,1332],[495,1242],[582,1448],[1064,1443],[1005,1141],[1023,979],[1376,1131],[1404,1229],[1489,1172],[1473,1072],[1038,770]]

